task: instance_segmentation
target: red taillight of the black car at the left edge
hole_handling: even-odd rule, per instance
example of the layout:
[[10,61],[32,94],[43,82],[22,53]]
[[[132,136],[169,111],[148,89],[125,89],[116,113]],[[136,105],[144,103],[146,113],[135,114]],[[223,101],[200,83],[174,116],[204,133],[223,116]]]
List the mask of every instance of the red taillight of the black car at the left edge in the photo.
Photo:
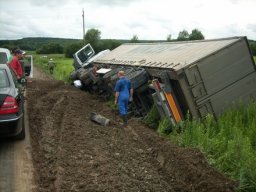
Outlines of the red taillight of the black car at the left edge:
[[14,97],[7,96],[0,107],[0,115],[18,113],[19,105]]

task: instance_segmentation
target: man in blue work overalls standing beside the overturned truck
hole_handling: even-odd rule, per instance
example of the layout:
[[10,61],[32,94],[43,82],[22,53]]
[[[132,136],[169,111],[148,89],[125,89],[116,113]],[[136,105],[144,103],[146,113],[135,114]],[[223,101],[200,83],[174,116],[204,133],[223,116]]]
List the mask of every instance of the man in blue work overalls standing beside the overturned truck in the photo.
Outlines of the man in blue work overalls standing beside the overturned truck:
[[125,77],[124,71],[119,71],[117,76],[119,80],[115,85],[115,104],[118,104],[123,125],[127,125],[128,102],[129,98],[132,98],[133,89],[131,87],[131,81]]

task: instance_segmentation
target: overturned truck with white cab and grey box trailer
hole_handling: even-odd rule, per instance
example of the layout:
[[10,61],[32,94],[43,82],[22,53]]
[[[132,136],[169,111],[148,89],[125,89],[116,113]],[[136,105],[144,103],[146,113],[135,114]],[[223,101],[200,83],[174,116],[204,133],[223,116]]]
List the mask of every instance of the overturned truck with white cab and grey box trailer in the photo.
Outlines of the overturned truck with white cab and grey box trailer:
[[[82,63],[81,52],[91,53],[87,49],[74,55],[75,63]],[[134,88],[135,115],[145,116],[155,104],[161,116],[176,124],[187,112],[195,118],[218,117],[256,98],[256,67],[246,37],[127,43],[94,57],[76,67],[71,78],[109,98],[117,71],[124,70]]]

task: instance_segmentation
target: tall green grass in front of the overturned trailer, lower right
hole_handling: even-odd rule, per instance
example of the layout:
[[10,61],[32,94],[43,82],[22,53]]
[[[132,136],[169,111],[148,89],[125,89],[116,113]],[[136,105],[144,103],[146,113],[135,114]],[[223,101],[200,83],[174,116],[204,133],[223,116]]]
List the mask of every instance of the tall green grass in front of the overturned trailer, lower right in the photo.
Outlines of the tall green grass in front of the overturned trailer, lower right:
[[[153,107],[146,117],[156,113]],[[203,120],[191,119],[176,127],[159,119],[156,131],[182,147],[200,149],[211,166],[239,181],[238,191],[256,191],[256,103],[230,109],[218,120],[211,115]]]

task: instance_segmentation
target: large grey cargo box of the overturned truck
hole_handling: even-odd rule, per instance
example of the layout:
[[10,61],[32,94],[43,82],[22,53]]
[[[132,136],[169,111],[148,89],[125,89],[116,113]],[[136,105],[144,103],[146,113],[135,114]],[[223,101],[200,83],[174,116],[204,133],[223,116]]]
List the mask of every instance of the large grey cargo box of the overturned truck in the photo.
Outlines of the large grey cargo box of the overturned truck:
[[141,74],[136,82],[158,79],[165,84],[165,94],[172,95],[182,117],[188,111],[196,118],[218,116],[238,100],[255,99],[255,63],[246,37],[127,43],[95,64],[145,69],[148,79]]

